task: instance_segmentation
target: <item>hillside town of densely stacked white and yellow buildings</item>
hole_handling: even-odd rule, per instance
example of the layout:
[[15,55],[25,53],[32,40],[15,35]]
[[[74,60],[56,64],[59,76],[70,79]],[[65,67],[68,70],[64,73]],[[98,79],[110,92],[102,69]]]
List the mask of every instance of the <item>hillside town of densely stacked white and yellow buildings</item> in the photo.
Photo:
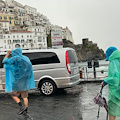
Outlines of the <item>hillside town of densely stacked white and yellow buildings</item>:
[[50,31],[62,34],[62,39],[73,42],[72,32],[58,25],[51,25],[49,19],[36,8],[16,2],[0,0],[0,50],[46,49]]

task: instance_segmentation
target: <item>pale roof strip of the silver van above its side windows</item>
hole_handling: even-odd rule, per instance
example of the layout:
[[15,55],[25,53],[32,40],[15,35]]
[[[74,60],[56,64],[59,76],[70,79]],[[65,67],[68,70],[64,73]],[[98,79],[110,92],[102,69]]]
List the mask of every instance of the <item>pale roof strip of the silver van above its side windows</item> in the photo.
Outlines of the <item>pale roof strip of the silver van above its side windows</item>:
[[[73,48],[58,48],[58,49],[32,49],[32,50],[22,50],[22,53],[31,53],[31,52],[57,52],[57,51],[66,51],[66,50],[74,50]],[[0,52],[0,55],[5,55],[7,51]]]

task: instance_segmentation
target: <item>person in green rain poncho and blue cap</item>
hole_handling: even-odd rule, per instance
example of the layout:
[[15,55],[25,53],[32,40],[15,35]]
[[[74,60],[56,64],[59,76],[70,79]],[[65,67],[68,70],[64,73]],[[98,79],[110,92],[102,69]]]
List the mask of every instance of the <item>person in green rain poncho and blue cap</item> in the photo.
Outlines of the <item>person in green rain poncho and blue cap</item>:
[[108,77],[101,83],[108,84],[108,114],[109,120],[115,120],[120,116],[120,51],[116,47],[106,50],[106,60],[109,61]]

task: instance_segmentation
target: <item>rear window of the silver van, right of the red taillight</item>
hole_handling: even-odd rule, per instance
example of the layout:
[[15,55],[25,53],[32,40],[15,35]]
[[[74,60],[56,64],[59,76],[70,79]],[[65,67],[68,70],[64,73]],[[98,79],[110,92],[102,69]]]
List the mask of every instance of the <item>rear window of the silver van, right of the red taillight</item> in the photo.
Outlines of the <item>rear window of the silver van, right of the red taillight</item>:
[[69,56],[70,63],[78,62],[78,59],[74,50],[68,50],[68,56]]

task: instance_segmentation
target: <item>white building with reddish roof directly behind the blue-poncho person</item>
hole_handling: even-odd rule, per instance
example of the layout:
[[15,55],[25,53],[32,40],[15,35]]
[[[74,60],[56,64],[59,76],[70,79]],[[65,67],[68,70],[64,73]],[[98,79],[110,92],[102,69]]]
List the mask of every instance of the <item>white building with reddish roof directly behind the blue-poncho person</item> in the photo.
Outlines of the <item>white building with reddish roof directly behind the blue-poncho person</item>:
[[18,47],[22,49],[34,48],[33,33],[30,31],[11,31],[4,34],[1,41],[1,50],[11,50]]

